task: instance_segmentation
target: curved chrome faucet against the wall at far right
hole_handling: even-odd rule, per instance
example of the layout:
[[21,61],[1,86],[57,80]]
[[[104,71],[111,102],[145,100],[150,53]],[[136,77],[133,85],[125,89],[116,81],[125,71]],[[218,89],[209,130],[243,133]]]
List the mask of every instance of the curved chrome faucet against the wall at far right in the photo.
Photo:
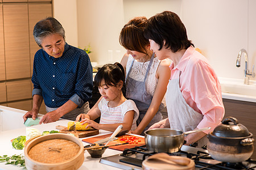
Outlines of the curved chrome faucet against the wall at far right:
[[240,67],[241,56],[243,53],[245,53],[245,82],[244,82],[244,84],[249,84],[250,77],[254,77],[255,73],[254,73],[254,65],[253,65],[253,72],[250,72],[250,70],[248,69],[248,54],[245,49],[241,49],[238,53],[237,67]]

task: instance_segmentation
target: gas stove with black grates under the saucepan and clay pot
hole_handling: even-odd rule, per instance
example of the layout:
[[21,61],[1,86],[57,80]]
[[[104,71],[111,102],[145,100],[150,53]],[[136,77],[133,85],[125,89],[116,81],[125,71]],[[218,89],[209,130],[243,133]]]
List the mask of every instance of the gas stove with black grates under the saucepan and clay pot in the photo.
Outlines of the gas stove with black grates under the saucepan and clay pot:
[[[101,158],[100,163],[121,169],[142,169],[142,162],[148,156],[156,154],[147,150],[146,146],[126,149],[122,154]],[[203,148],[183,145],[179,152],[169,153],[174,156],[185,156],[195,161],[195,169],[256,169],[256,160],[246,160],[242,163],[224,163],[214,160]]]

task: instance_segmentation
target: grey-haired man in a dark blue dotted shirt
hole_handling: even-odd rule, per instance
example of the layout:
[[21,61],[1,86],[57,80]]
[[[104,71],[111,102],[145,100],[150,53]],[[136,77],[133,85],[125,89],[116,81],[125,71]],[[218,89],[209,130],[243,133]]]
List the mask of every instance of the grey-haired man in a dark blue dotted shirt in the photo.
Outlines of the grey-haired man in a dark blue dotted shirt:
[[34,39],[42,48],[34,58],[32,110],[24,114],[36,118],[44,100],[46,113],[39,124],[65,118],[75,120],[89,111],[93,74],[88,54],[65,42],[65,31],[55,19],[40,20],[34,27]]

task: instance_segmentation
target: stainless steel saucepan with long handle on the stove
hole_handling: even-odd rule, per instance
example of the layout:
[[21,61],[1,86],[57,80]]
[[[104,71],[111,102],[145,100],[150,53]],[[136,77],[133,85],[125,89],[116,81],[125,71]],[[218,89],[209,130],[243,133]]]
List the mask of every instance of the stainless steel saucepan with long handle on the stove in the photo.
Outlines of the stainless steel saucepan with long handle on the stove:
[[184,135],[208,130],[210,127],[186,131],[170,128],[150,129],[144,132],[146,147],[154,152],[177,152],[184,143]]

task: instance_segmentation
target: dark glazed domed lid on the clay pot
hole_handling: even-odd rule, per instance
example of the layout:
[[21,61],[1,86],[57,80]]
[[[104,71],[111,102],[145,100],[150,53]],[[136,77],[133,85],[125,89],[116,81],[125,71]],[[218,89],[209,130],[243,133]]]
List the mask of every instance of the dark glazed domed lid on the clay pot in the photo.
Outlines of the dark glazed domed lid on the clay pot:
[[222,124],[218,125],[213,130],[213,135],[217,137],[247,137],[250,135],[248,129],[242,124],[238,123],[238,120],[234,117],[227,117],[222,121]]

